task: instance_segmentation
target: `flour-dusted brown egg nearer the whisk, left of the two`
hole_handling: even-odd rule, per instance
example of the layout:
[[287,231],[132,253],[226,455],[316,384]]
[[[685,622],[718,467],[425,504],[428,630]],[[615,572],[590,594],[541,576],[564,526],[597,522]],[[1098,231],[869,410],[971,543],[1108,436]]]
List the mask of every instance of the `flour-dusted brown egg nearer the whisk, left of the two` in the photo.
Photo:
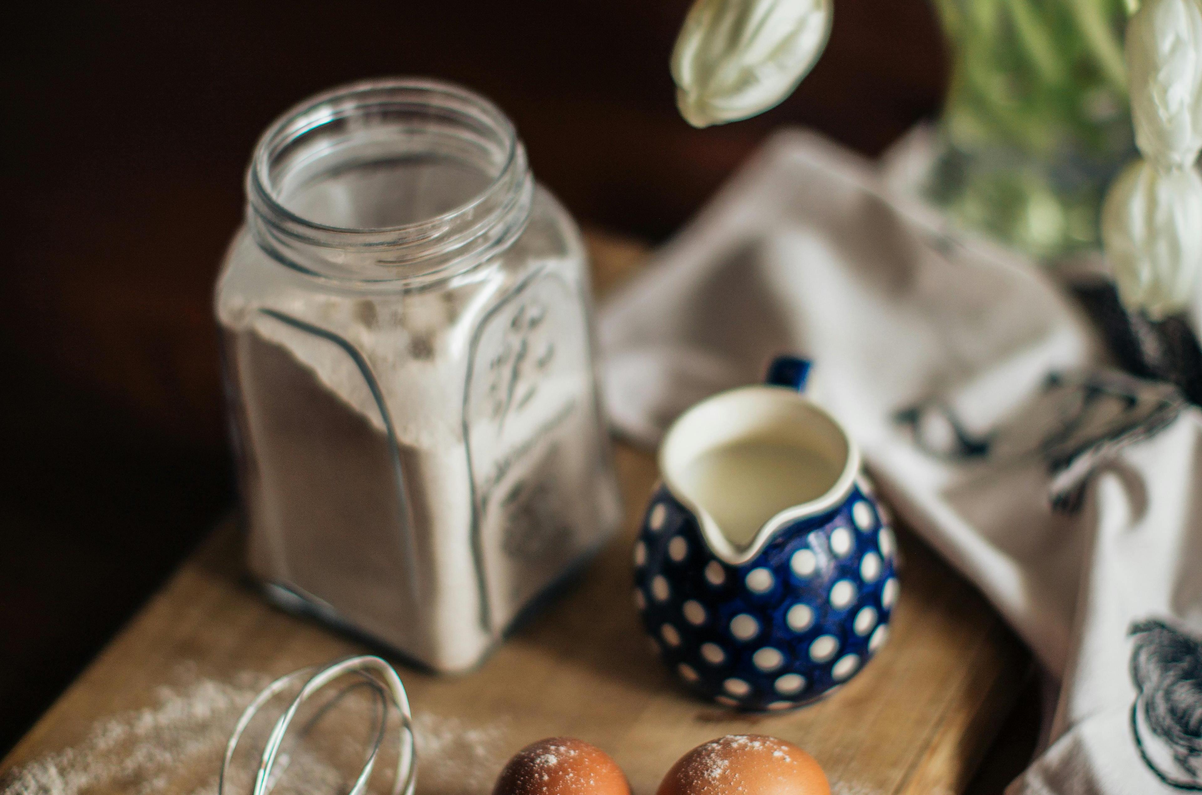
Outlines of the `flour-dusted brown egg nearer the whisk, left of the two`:
[[572,737],[549,737],[513,754],[493,795],[630,795],[609,754]]

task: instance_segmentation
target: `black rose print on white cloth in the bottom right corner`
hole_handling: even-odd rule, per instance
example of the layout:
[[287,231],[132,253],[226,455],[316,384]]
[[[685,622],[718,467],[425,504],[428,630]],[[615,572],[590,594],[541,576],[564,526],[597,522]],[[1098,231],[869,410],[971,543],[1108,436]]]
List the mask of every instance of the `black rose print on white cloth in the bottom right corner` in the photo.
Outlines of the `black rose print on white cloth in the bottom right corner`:
[[1156,778],[1202,791],[1202,639],[1164,621],[1137,621],[1133,638],[1131,734]]

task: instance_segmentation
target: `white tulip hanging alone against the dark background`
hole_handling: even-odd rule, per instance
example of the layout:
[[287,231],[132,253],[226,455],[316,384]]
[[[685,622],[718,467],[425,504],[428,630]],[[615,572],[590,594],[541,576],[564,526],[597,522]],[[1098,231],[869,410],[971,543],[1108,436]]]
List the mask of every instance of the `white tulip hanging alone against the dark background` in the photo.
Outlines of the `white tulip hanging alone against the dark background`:
[[780,103],[831,34],[832,0],[697,0],[672,52],[680,115],[695,127]]

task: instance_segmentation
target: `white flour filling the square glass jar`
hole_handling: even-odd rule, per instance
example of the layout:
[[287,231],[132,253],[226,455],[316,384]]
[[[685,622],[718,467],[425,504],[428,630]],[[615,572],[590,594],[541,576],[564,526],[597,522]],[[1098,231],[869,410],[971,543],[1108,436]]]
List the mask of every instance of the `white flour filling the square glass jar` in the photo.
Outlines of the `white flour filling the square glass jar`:
[[260,579],[460,670],[607,538],[617,484],[561,267],[380,297],[224,277]]

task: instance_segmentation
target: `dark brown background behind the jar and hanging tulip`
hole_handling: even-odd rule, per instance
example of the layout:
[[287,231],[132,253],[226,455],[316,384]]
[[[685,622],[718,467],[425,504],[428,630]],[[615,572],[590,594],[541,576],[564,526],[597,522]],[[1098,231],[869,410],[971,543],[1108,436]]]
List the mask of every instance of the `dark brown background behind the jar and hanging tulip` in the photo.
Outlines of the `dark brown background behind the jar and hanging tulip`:
[[462,82],[577,219],[657,241],[772,128],[875,155],[946,82],[926,0],[840,0],[792,98],[706,131],[667,68],[685,0],[20,5],[0,89],[0,754],[233,502],[210,289],[251,147],[288,106],[369,76]]

